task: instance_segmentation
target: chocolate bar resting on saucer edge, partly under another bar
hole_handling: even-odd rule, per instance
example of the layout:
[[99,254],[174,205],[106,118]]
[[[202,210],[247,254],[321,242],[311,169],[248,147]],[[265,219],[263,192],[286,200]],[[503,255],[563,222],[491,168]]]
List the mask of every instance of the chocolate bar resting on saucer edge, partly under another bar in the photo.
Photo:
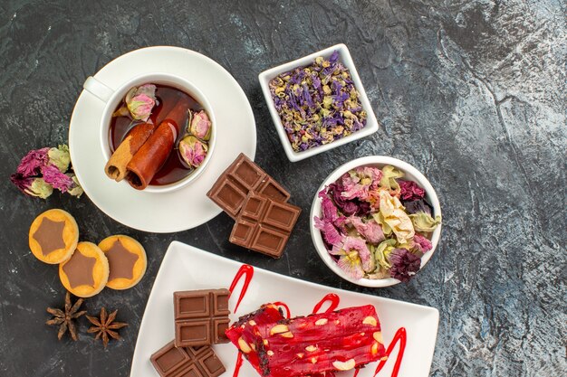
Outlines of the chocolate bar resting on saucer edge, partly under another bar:
[[290,193],[275,182],[274,178],[241,153],[216,180],[207,196],[235,219],[246,195],[254,191],[263,193],[276,202],[287,202],[290,197]]

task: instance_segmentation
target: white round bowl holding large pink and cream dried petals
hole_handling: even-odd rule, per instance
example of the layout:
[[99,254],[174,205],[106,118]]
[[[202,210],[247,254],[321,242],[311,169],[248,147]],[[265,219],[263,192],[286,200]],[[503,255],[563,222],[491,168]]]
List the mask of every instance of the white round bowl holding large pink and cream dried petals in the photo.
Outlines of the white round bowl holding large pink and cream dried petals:
[[[387,157],[387,156],[367,156],[357,158],[356,160],[352,160],[344,165],[339,166],[335,169],[332,174],[324,180],[322,185],[317,189],[315,193],[315,198],[313,199],[313,203],[311,206],[311,213],[310,213],[310,228],[311,228],[311,237],[313,240],[313,244],[315,245],[315,249],[319,253],[322,261],[325,262],[327,267],[332,270],[335,274],[339,275],[341,278],[350,281],[353,284],[357,284],[363,287],[389,287],[399,283],[397,278],[380,278],[380,279],[370,279],[370,278],[360,278],[354,279],[350,278],[345,272],[339,267],[335,259],[332,258],[331,254],[325,247],[325,244],[322,240],[321,231],[315,228],[315,221],[313,220],[314,216],[321,217],[321,203],[322,199],[318,196],[318,194],[322,191],[323,188],[332,184],[333,182],[337,181],[341,178],[342,174],[347,173],[348,171],[358,167],[358,166],[373,166],[382,168],[385,165],[392,165],[399,169],[400,171],[404,172],[404,179],[408,179],[411,181],[416,182],[419,187],[425,189],[426,191],[426,199],[428,203],[433,206],[433,216],[441,215],[441,207],[439,206],[439,200],[437,199],[437,193],[433,189],[433,186],[429,184],[428,179],[421,173],[419,173],[418,169],[405,163],[397,158]],[[441,235],[441,224],[437,226],[435,231],[431,236],[431,244],[432,249],[426,252],[423,257],[421,257],[421,268],[428,263],[428,260],[431,259],[433,253],[437,249],[437,243],[439,242],[439,237]]]

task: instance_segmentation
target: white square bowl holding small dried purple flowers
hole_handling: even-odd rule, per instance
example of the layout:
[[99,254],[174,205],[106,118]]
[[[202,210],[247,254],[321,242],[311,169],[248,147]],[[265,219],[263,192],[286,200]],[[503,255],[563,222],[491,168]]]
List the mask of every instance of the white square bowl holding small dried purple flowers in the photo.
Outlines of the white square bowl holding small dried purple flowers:
[[[338,140],[332,141],[329,144],[325,144],[323,146],[314,146],[301,152],[295,152],[293,150],[292,143],[290,143],[285,129],[283,128],[282,119],[280,118],[275,108],[274,99],[272,99],[272,93],[270,92],[269,87],[270,80],[274,79],[280,73],[293,71],[293,69],[297,67],[305,67],[307,65],[310,65],[313,63],[313,61],[315,61],[315,58],[318,58],[319,56],[322,56],[325,59],[329,59],[329,57],[332,55],[332,52],[335,51],[339,52],[339,61],[341,61],[341,63],[349,69],[349,71],[351,72],[351,79],[354,83],[354,87],[359,91],[360,104],[367,114],[366,126],[352,133],[348,137],[342,137]],[[278,133],[278,136],[280,137],[280,140],[282,141],[285,155],[287,155],[287,158],[291,162],[300,161],[304,158],[318,155],[337,146],[342,146],[350,143],[351,141],[358,140],[361,137],[368,137],[369,135],[378,131],[378,120],[376,120],[376,116],[374,115],[374,111],[372,110],[372,106],[370,105],[370,100],[366,95],[366,91],[364,90],[362,82],[360,81],[359,73],[356,71],[356,67],[354,66],[354,62],[352,61],[351,52],[349,52],[349,49],[345,44],[335,44],[334,46],[328,47],[322,51],[313,52],[311,55],[304,56],[303,58],[296,61],[290,61],[277,67],[271,68],[267,71],[263,71],[258,75],[258,80],[260,80],[260,86],[262,87],[262,92],[264,93],[265,102],[268,105],[270,114],[272,115],[272,120],[274,120],[275,129]]]

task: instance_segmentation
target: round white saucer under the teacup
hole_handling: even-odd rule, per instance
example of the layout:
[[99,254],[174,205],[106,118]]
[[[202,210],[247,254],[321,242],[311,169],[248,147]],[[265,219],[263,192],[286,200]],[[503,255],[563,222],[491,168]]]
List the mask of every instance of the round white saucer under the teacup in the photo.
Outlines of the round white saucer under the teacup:
[[216,61],[179,47],[157,46],[129,52],[111,61],[94,77],[112,89],[150,71],[173,73],[194,83],[209,99],[216,115],[216,151],[195,182],[171,193],[137,191],[104,174],[99,145],[104,104],[82,91],[72,112],[69,149],[72,166],[92,203],[112,219],[139,231],[168,233],[201,225],[221,212],[207,198],[216,178],[238,156],[255,157],[254,114],[245,92]]

